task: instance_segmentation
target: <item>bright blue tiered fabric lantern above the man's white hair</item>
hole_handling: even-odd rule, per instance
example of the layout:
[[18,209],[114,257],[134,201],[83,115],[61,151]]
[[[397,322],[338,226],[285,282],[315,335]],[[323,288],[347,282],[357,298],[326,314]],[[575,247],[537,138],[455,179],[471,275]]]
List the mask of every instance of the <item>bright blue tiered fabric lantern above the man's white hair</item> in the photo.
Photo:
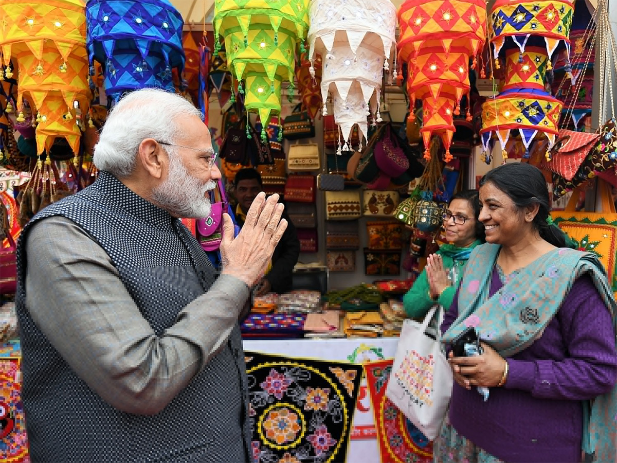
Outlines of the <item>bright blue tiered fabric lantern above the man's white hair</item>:
[[172,69],[184,69],[184,22],[168,0],[89,0],[86,17],[88,59],[102,64],[112,101],[139,88],[174,90]]

